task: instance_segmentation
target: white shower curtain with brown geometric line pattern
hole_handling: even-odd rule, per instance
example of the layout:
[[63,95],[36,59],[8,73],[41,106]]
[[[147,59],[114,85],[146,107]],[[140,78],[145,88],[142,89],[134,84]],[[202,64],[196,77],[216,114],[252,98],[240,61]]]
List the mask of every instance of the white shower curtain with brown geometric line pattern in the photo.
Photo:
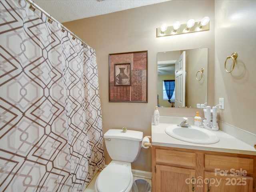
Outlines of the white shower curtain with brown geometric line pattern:
[[94,49],[0,1],[0,191],[83,191],[104,167]]

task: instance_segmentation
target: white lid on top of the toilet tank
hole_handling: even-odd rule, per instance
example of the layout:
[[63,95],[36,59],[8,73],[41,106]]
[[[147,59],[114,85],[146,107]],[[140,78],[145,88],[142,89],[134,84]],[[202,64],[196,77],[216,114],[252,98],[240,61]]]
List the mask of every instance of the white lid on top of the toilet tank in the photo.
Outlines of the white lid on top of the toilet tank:
[[110,129],[104,134],[104,138],[118,138],[142,141],[143,132],[133,130],[127,130],[126,132],[123,132],[122,129]]

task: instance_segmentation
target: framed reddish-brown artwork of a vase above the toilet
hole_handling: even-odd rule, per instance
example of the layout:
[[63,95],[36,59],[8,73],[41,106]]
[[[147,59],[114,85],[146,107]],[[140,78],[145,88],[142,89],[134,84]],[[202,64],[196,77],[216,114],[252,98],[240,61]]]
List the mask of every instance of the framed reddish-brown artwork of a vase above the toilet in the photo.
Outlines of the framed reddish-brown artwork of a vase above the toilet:
[[109,54],[109,102],[148,102],[148,51]]

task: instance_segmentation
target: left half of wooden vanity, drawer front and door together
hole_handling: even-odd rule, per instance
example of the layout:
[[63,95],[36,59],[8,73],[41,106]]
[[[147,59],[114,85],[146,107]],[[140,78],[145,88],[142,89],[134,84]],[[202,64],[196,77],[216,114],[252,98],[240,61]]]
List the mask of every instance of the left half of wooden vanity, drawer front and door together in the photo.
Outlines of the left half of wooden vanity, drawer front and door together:
[[156,149],[156,192],[192,192],[195,167],[195,153]]

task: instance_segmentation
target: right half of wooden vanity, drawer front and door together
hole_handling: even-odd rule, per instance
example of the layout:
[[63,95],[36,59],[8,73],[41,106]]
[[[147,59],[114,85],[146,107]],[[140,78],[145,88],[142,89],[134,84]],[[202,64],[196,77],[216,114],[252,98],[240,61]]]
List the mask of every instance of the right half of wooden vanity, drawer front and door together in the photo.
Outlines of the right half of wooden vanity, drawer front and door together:
[[[253,192],[254,159],[250,156],[233,157],[205,154],[204,188],[210,192]],[[209,185],[210,184],[210,185]]]

